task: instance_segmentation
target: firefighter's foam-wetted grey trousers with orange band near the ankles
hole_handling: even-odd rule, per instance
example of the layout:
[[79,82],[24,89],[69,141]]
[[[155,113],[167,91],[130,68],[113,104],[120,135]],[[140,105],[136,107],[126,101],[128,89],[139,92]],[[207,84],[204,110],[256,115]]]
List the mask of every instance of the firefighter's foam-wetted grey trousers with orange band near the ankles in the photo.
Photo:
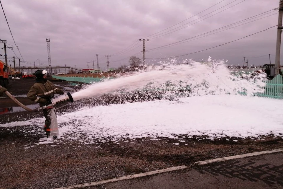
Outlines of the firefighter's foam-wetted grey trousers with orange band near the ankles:
[[48,107],[46,109],[43,109],[43,115],[46,119],[44,131],[46,132],[47,138],[50,136],[51,137],[58,136],[59,130],[58,130],[57,115],[55,108]]

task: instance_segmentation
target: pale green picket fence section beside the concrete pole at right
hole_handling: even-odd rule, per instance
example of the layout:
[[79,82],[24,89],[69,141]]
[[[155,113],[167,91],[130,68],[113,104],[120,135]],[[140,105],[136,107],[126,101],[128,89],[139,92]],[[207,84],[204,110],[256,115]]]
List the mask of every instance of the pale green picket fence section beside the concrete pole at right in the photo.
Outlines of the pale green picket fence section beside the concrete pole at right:
[[266,82],[265,92],[258,93],[259,97],[283,99],[283,77],[277,75],[272,80]]

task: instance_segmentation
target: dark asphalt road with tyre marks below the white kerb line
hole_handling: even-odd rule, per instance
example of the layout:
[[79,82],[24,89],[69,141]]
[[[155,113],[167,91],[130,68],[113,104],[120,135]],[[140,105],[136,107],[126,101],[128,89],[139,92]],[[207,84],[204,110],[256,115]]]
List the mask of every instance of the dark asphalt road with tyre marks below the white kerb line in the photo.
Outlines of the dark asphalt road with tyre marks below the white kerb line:
[[283,153],[274,153],[108,183],[88,189],[283,188]]

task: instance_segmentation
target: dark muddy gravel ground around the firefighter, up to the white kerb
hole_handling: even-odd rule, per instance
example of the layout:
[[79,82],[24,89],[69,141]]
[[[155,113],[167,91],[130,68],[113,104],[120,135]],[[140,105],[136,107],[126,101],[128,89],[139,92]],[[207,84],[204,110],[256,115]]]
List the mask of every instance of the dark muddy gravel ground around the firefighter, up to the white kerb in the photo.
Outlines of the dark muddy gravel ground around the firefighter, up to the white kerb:
[[[79,88],[65,81],[52,82],[65,91]],[[10,81],[8,91],[24,105],[32,105],[33,102],[24,97],[32,83],[32,79],[14,79]],[[0,123],[43,117],[42,112],[8,113],[7,108],[16,109],[15,106],[9,98],[0,98]],[[34,134],[31,130],[40,131],[40,134]],[[235,141],[185,136],[185,142],[179,145],[173,144],[179,142],[174,139],[152,141],[143,138],[119,143],[105,142],[100,145],[101,148],[64,139],[52,144],[37,144],[44,136],[43,127],[0,127],[0,188],[58,188],[283,147],[283,140],[273,136]],[[35,146],[29,148],[32,144]]]

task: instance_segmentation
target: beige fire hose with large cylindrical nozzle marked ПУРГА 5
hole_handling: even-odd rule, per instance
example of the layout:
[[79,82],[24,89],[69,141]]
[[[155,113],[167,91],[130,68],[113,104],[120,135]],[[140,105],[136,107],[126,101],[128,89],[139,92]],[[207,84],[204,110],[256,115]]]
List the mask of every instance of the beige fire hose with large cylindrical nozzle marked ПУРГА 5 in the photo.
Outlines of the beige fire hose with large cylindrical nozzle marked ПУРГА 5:
[[[0,85],[0,88],[2,88],[2,86]],[[29,107],[23,105],[21,102],[19,102],[19,100],[17,100],[13,95],[11,95],[11,93],[9,93],[8,91],[5,91],[5,94],[14,102],[16,102],[17,105],[19,105],[20,107],[24,108],[25,110],[29,111],[29,112],[38,112],[40,110],[43,110],[45,108],[48,107],[55,107],[56,109],[61,108],[65,105],[68,105],[72,102],[74,102],[72,95],[70,94],[70,92],[67,92],[66,94],[62,94],[59,95],[57,97],[54,97],[50,100],[50,104],[46,105],[46,106],[42,106],[39,108],[36,108],[34,110],[30,109]]]

